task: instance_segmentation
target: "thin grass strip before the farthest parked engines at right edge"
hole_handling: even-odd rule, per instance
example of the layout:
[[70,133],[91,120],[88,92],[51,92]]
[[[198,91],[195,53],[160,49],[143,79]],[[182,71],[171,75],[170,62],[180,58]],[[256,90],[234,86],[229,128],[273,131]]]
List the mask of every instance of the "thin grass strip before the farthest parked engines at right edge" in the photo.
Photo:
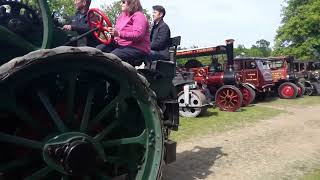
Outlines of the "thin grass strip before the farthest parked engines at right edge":
[[276,99],[269,102],[261,102],[261,104],[270,104],[278,106],[312,106],[320,104],[320,96],[304,96],[297,99]]

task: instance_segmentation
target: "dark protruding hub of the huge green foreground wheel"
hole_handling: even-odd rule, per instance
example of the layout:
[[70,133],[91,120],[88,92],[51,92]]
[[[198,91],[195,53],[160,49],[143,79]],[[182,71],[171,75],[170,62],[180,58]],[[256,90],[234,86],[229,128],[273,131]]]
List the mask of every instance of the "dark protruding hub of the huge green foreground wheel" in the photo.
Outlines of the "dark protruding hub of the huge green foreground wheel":
[[50,140],[43,149],[48,166],[72,176],[86,175],[97,169],[98,150],[93,141],[85,134],[63,134]]

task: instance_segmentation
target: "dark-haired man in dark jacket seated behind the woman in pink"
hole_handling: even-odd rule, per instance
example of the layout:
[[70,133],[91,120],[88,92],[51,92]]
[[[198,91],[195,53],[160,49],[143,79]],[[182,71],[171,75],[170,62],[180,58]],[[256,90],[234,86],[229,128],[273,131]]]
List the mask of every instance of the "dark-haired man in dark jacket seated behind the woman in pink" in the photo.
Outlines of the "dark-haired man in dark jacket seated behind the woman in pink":
[[169,60],[170,29],[163,21],[166,10],[159,5],[153,6],[153,27],[151,30],[151,60]]

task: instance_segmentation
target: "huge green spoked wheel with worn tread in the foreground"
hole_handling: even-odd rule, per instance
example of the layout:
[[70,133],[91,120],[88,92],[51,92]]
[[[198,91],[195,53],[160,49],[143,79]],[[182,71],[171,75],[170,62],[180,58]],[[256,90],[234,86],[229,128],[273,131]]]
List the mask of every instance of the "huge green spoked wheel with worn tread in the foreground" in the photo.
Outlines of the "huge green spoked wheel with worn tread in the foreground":
[[60,47],[0,72],[1,179],[159,179],[158,107],[130,65]]

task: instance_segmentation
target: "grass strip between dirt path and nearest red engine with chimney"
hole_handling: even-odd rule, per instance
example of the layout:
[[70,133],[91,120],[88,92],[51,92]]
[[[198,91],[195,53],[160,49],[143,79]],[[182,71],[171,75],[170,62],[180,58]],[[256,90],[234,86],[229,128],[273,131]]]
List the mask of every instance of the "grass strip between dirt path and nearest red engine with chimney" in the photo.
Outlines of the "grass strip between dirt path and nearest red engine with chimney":
[[176,141],[190,139],[205,134],[221,132],[263,119],[270,119],[285,111],[252,106],[242,108],[240,112],[223,112],[210,108],[206,115],[197,118],[180,118],[178,132],[173,132],[171,139]]

